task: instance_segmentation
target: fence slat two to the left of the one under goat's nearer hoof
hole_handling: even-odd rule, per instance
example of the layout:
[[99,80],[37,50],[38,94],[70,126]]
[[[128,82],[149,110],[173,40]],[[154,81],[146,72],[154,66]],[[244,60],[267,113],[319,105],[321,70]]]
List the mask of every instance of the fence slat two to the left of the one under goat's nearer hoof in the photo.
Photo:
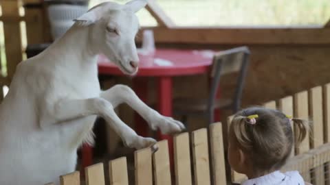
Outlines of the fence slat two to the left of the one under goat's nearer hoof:
[[98,163],[85,168],[87,185],[104,185],[104,169],[103,164]]

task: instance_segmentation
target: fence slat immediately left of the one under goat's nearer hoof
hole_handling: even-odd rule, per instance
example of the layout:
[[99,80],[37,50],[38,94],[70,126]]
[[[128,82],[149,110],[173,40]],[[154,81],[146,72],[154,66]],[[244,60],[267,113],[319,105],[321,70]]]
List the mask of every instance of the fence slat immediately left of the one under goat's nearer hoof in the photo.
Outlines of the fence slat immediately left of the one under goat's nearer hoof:
[[110,185],[129,185],[126,158],[109,161]]

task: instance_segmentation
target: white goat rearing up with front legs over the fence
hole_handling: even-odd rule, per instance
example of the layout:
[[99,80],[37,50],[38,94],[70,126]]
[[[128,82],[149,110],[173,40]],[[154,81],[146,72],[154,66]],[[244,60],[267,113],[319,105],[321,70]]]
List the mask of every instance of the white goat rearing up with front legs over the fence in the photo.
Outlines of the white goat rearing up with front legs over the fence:
[[41,185],[76,167],[76,151],[102,116],[128,147],[156,141],[138,136],[113,108],[127,103],[164,134],[184,125],[148,108],[127,86],[101,91],[97,56],[104,53],[123,73],[137,72],[135,12],[146,5],[102,3],[76,19],[69,31],[34,58],[21,62],[0,106],[0,184]]

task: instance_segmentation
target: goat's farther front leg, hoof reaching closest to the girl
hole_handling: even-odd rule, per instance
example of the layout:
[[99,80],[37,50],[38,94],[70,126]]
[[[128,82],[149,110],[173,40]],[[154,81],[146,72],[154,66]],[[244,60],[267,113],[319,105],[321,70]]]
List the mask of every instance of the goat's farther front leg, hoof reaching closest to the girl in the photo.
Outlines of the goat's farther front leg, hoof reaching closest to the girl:
[[181,122],[162,116],[149,108],[128,86],[115,85],[109,90],[103,91],[100,97],[107,99],[114,107],[120,103],[127,103],[148,122],[151,129],[159,129],[162,134],[181,132],[185,128]]

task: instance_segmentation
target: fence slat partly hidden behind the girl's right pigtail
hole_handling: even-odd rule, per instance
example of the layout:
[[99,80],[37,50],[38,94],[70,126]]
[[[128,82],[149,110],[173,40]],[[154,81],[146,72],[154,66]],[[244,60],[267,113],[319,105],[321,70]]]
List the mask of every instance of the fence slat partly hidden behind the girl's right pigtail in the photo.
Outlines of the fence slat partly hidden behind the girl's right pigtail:
[[[300,119],[307,119],[309,110],[308,110],[308,94],[307,91],[296,93],[294,95],[294,116]],[[295,127],[296,130],[296,127]],[[296,132],[298,133],[298,132]],[[305,153],[309,150],[309,134],[306,138],[300,143],[300,146],[296,148],[296,154]]]

